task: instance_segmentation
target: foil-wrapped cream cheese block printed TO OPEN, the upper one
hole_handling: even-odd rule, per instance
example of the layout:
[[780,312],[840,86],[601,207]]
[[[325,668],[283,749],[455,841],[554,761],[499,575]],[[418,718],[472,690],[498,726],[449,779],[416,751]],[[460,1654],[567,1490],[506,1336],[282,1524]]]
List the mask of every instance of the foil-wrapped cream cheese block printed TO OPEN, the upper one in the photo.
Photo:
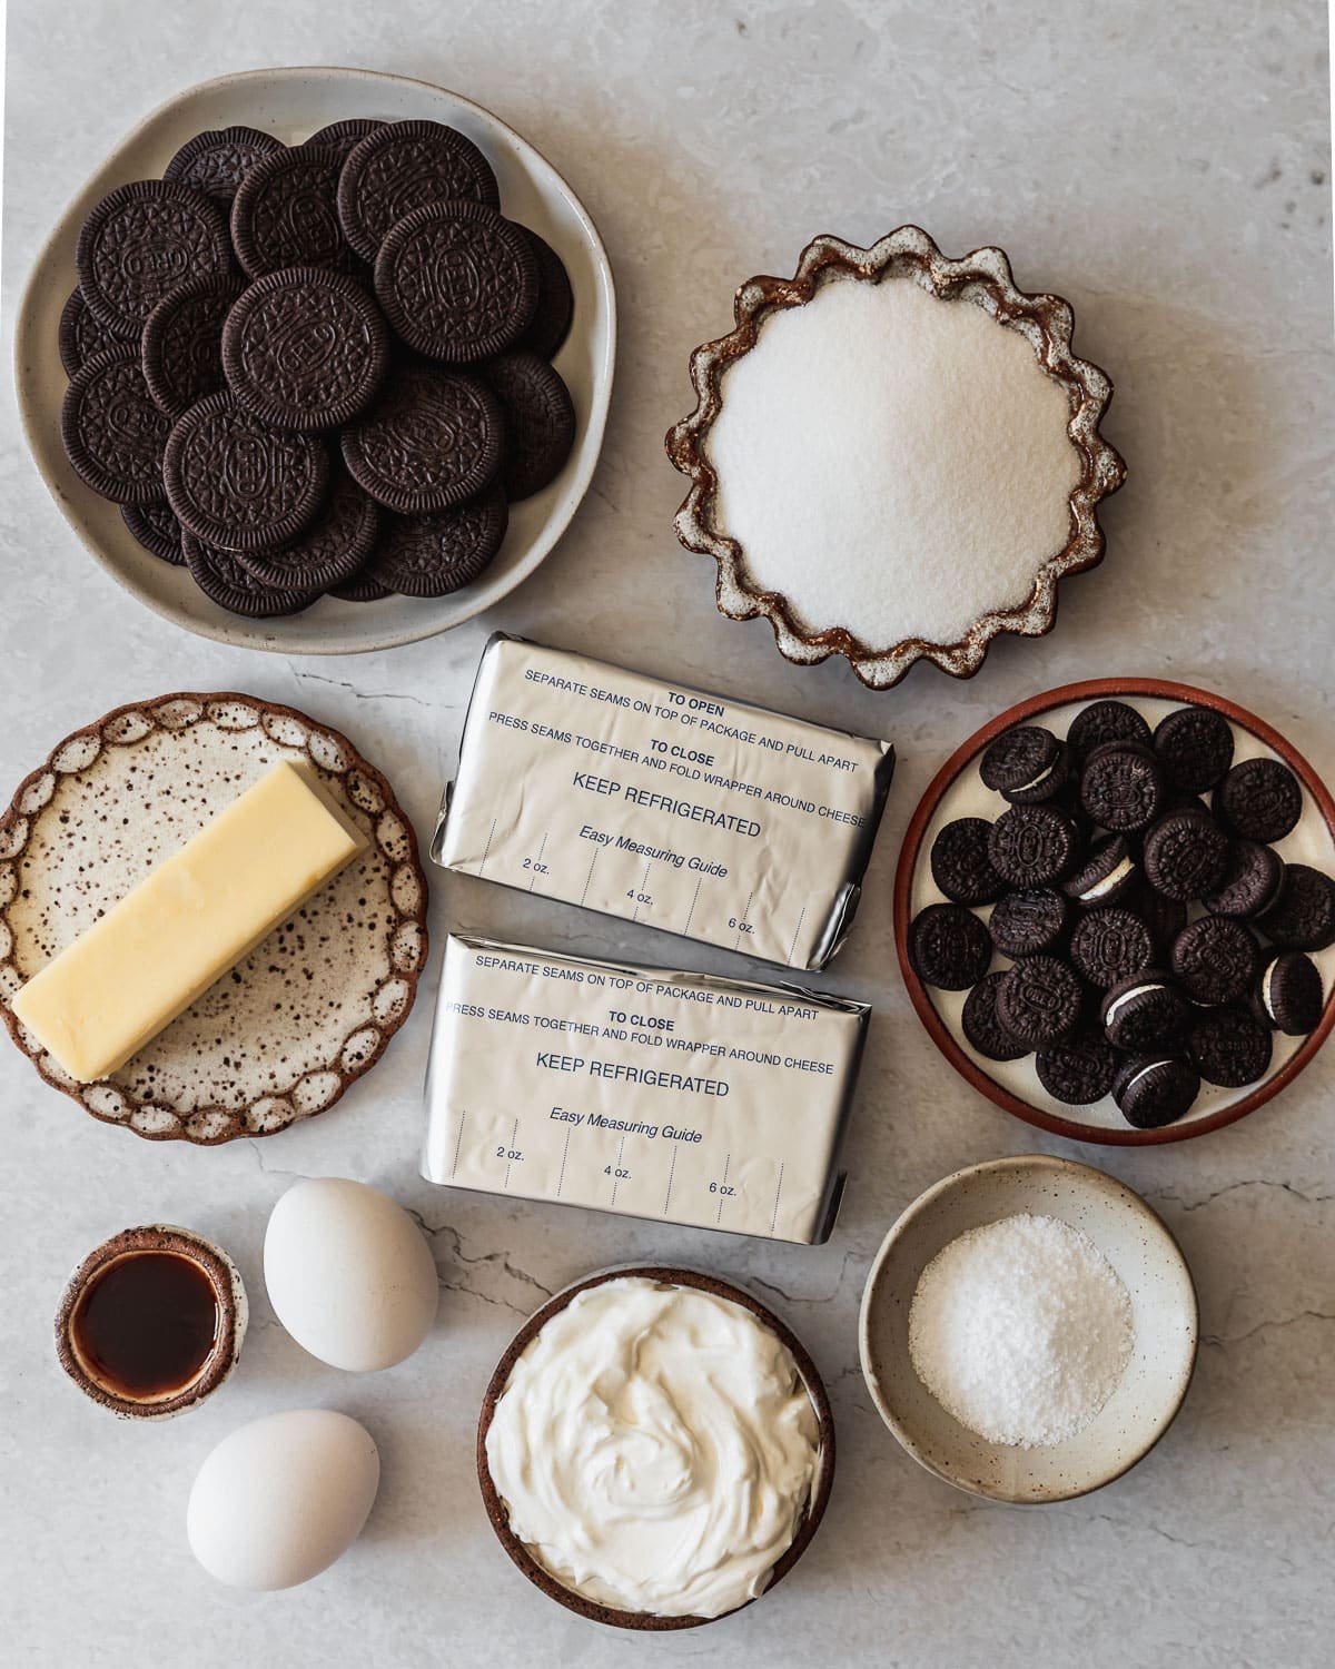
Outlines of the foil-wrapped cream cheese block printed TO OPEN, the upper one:
[[432,858],[786,968],[844,941],[894,749],[494,636]]

